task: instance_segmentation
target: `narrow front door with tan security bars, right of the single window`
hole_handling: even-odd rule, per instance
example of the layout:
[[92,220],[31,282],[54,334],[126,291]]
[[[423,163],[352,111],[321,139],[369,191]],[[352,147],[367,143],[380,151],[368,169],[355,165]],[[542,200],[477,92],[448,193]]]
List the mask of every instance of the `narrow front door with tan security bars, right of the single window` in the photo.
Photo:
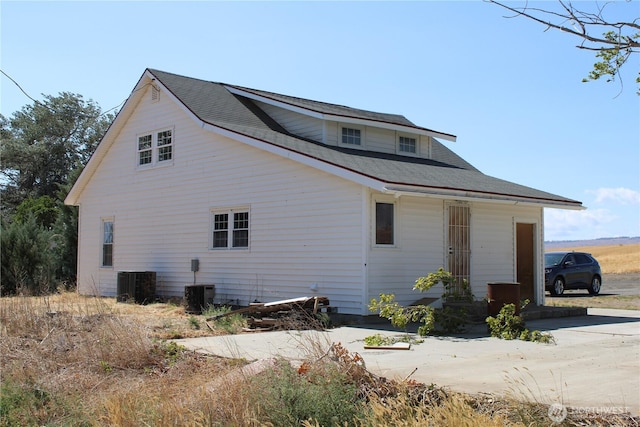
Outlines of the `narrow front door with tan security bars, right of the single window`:
[[447,267],[457,283],[469,280],[471,270],[471,209],[449,205],[447,209]]

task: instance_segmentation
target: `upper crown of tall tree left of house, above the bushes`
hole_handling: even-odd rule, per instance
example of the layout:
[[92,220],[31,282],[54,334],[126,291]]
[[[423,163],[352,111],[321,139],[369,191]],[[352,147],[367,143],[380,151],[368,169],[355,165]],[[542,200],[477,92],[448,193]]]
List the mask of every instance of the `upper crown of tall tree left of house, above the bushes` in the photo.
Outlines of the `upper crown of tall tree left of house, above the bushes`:
[[13,114],[0,117],[0,173],[3,213],[26,198],[56,198],[74,169],[86,164],[112,120],[93,101],[63,92],[44,95]]

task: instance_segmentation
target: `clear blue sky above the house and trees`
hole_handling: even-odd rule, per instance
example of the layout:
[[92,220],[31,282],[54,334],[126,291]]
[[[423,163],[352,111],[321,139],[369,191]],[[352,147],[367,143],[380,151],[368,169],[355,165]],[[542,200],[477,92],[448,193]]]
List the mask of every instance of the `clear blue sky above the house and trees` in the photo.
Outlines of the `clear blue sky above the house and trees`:
[[[402,114],[457,135],[445,143],[488,175],[582,201],[545,209],[546,240],[640,235],[640,55],[623,86],[582,83],[595,58],[578,39],[482,1],[3,0],[0,14],[0,67],[36,99],[107,110],[148,67]],[[31,103],[5,76],[0,90],[5,117]]]

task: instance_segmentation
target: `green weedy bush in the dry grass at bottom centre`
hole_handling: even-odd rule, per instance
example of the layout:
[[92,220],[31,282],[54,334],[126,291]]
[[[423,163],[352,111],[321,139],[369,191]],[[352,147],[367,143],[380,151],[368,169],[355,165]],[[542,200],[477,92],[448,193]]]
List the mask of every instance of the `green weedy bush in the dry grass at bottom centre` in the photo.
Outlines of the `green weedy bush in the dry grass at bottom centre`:
[[333,364],[298,373],[289,362],[278,360],[273,369],[254,377],[259,423],[299,426],[311,420],[320,426],[342,426],[364,414],[357,388]]

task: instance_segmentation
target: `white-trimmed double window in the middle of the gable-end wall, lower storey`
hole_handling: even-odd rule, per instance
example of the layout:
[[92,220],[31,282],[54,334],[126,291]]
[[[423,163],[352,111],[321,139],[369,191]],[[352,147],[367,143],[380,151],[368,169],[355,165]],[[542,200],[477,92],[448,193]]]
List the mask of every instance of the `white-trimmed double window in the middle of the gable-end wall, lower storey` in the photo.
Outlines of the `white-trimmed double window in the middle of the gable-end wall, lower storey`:
[[213,249],[249,247],[249,210],[226,209],[211,211]]

